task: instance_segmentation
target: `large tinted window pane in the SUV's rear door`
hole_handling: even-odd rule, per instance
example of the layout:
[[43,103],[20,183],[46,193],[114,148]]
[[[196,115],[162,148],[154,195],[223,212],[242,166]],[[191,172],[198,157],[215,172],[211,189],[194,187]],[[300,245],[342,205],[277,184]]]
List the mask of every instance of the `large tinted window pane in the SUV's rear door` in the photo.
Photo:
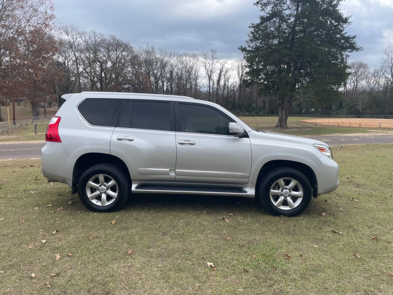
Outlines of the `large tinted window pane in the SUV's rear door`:
[[131,128],[171,130],[171,103],[132,101]]

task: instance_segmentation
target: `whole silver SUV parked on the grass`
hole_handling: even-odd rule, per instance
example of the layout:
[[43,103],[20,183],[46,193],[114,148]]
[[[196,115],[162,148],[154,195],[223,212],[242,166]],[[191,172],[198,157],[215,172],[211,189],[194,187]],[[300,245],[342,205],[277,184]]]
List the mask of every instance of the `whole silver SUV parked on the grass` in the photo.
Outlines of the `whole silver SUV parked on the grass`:
[[223,107],[185,96],[82,92],[48,125],[42,175],[68,184],[90,210],[132,194],[237,195],[295,216],[338,187],[320,141],[252,129]]

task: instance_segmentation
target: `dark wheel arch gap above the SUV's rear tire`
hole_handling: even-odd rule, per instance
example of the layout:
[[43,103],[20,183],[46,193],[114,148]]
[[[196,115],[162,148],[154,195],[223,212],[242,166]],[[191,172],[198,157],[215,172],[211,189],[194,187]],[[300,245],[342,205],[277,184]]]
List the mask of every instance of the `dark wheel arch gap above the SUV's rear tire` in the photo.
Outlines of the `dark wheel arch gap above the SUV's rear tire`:
[[74,164],[72,170],[71,194],[75,194],[78,191],[77,185],[82,173],[86,171],[88,168],[97,164],[114,164],[116,166],[119,166],[127,175],[128,180],[131,183],[130,171],[128,170],[125,162],[121,160],[119,157],[110,154],[105,154],[105,153],[85,153],[81,155]]

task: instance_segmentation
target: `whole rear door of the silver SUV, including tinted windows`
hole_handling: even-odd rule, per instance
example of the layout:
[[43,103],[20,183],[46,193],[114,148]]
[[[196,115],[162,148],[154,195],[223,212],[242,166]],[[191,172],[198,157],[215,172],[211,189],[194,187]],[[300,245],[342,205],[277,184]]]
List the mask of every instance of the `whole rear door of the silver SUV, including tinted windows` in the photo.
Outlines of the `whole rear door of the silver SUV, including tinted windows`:
[[123,159],[132,181],[174,181],[174,103],[126,100],[110,140],[110,153]]

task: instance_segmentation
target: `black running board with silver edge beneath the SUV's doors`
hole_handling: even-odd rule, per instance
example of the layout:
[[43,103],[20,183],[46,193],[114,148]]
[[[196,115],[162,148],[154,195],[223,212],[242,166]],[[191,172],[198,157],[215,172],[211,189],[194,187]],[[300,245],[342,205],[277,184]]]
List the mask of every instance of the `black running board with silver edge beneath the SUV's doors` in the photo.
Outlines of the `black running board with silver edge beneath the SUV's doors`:
[[[246,188],[248,189],[248,187]],[[193,195],[241,195],[244,197],[254,197],[254,186],[245,190],[241,187],[231,186],[179,186],[165,184],[133,184],[133,193],[160,193],[160,194],[193,194]]]

